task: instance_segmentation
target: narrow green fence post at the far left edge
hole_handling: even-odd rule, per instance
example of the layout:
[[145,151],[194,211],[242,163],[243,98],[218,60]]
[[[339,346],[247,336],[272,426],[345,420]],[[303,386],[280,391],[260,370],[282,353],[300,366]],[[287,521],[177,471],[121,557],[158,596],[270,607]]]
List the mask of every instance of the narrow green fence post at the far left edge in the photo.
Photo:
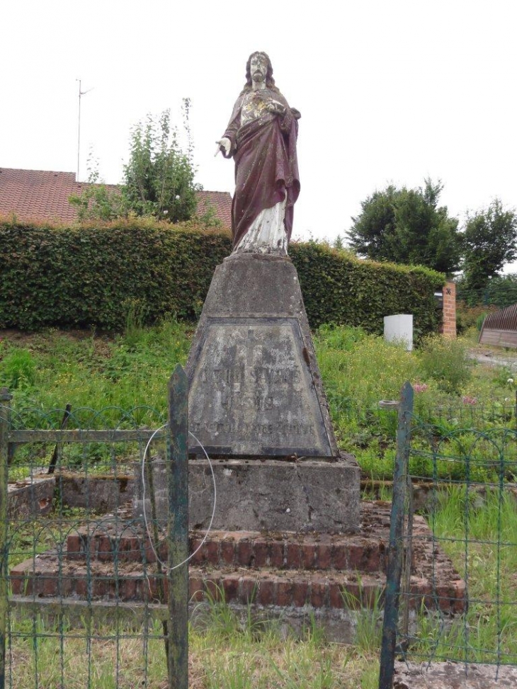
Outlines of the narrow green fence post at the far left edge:
[[0,689],[6,683],[6,632],[8,614],[8,462],[11,427],[12,394],[6,387],[0,389]]

